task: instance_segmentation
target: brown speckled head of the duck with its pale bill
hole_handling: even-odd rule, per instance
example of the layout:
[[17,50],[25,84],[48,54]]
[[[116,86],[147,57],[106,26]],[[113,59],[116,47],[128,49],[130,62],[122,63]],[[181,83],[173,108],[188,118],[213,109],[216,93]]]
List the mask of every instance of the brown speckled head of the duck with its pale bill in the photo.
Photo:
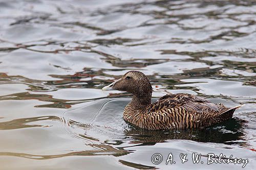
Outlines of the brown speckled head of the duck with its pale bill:
[[148,78],[140,71],[126,72],[120,79],[102,88],[102,90],[119,90],[141,97],[150,93],[152,86]]

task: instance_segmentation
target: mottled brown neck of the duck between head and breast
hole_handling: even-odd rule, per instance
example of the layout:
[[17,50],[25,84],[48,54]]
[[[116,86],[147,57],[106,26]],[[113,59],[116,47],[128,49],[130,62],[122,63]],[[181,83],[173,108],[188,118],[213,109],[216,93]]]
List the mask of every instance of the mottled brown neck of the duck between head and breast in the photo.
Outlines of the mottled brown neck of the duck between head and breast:
[[145,108],[147,105],[151,104],[152,92],[145,93],[143,95],[133,95],[133,99],[130,103],[130,107],[135,110],[141,110]]

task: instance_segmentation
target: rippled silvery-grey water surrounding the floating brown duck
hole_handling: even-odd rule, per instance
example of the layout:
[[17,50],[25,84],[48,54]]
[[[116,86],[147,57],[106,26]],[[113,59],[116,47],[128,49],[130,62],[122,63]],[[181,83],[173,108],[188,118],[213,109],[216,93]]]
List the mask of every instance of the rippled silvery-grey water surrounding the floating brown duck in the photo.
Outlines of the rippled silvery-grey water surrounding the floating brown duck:
[[[0,11],[0,169],[242,168],[207,165],[208,153],[255,169],[255,1],[1,1]],[[122,119],[129,93],[101,91],[133,69],[151,79],[153,101],[186,92],[244,106],[206,129],[141,130]]]

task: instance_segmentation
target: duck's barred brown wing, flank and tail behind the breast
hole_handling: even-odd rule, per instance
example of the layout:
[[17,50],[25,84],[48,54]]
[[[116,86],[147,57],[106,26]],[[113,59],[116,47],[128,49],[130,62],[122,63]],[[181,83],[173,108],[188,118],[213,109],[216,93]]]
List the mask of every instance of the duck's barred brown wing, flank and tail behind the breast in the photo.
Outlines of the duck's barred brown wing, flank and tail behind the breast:
[[179,129],[211,126],[232,117],[238,107],[224,105],[192,94],[166,94],[157,102],[142,110],[144,118],[151,122],[147,129]]

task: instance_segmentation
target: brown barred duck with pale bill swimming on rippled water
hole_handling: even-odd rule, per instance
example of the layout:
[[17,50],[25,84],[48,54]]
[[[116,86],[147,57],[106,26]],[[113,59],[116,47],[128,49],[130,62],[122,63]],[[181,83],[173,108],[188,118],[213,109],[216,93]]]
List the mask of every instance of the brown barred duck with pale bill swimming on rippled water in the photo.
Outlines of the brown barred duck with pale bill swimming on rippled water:
[[222,123],[241,107],[225,107],[211,103],[197,95],[168,93],[151,103],[153,88],[150,80],[140,71],[126,72],[120,79],[102,88],[133,94],[124,108],[125,122],[147,130],[179,130],[205,128]]

